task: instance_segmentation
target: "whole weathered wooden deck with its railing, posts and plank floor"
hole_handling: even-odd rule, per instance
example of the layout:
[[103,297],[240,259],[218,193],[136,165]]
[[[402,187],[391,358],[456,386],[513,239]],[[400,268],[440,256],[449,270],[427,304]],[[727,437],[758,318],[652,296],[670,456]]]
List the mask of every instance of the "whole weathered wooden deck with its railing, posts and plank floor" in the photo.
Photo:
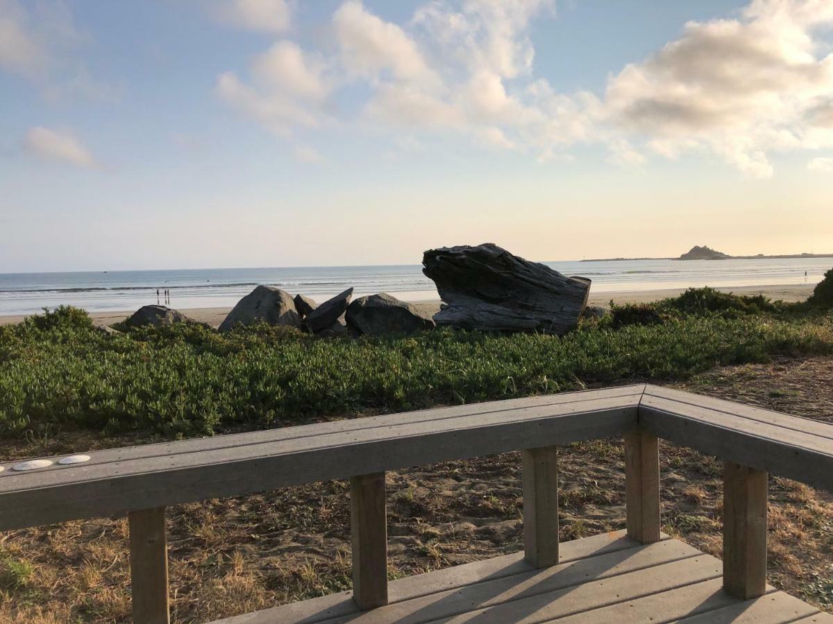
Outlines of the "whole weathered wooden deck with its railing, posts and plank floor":
[[[627,533],[558,542],[558,446],[621,437]],[[661,535],[660,439],[724,460],[723,561]],[[521,451],[524,552],[387,582],[385,472]],[[833,492],[833,427],[651,385],[0,465],[0,531],[127,514],[133,620],[167,624],[165,508],[349,478],[353,591],[227,622],[833,622],[766,585],[769,473]],[[31,468],[31,467],[30,467]]]

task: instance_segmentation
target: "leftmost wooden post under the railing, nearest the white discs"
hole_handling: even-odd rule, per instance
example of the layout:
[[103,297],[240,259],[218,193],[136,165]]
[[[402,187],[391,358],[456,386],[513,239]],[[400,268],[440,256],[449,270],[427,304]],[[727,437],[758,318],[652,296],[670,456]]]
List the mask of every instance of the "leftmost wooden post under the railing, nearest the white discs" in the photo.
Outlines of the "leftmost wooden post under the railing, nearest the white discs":
[[127,514],[130,526],[130,585],[133,622],[167,624],[167,538],[165,508]]

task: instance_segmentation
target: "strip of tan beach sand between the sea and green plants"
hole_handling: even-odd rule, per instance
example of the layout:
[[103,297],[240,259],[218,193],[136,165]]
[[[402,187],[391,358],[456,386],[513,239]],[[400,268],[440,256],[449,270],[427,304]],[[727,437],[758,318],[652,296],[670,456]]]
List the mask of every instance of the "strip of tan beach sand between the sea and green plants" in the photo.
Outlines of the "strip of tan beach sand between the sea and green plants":
[[[782,284],[782,285],[758,285],[758,286],[727,286],[716,290],[723,292],[732,292],[736,295],[766,295],[771,300],[784,301],[803,301],[812,295],[815,285],[813,284]],[[613,300],[616,304],[626,303],[646,303],[649,301],[656,301],[665,299],[666,297],[674,297],[680,295],[684,288],[658,289],[658,290],[623,290],[615,292],[601,292],[590,294],[590,305],[607,306]],[[392,293],[396,296],[396,293]],[[413,305],[421,310],[424,314],[434,314],[440,309],[439,300],[429,301],[414,301]],[[191,308],[182,309],[180,312],[186,314],[191,319],[201,323],[207,323],[212,327],[217,327],[226,318],[231,308]],[[124,319],[127,319],[133,313],[133,310],[122,312],[92,312],[90,318],[92,322],[102,325],[112,325]],[[0,324],[14,324],[20,323],[27,315],[0,315]]]

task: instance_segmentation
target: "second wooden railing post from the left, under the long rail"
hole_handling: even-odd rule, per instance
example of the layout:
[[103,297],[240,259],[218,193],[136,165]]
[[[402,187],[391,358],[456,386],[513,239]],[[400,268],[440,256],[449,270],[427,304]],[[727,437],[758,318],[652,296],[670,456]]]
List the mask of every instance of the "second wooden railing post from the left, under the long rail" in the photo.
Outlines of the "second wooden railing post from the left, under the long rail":
[[353,600],[362,611],[387,605],[385,473],[350,479]]

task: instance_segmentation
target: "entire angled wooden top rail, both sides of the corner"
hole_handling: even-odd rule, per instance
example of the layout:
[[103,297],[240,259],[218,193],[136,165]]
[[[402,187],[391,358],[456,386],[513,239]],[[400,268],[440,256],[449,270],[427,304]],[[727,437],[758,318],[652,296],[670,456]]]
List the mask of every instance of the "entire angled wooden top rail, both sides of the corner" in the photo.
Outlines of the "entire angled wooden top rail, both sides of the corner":
[[301,483],[642,428],[833,491],[833,427],[651,385],[511,399],[89,453],[17,472],[0,463],[0,530],[238,496]]

